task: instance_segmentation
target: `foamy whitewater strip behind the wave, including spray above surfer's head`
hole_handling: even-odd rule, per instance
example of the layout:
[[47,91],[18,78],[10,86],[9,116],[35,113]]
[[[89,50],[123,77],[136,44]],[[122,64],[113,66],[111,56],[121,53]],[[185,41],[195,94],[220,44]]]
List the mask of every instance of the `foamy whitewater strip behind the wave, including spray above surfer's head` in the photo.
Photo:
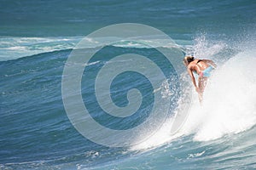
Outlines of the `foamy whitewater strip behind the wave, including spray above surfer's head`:
[[[83,41],[82,47],[78,46]],[[108,43],[112,42],[112,43]],[[175,39],[173,42],[160,36],[132,37],[131,40],[119,37],[0,37],[0,61],[20,59],[35,54],[78,48],[101,48],[113,46],[119,48],[180,48],[185,54],[199,58],[209,58],[224,48],[225,42],[209,42],[202,35],[195,40]],[[223,56],[222,56],[223,57]]]

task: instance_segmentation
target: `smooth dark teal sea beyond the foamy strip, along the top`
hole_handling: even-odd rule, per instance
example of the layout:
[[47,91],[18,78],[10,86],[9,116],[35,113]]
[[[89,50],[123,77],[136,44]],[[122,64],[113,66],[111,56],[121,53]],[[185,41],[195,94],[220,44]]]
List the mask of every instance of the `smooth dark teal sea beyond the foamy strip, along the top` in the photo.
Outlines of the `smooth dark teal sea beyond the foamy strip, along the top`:
[[2,36],[84,36],[102,26],[141,23],[167,34],[238,33],[254,26],[255,3],[236,1],[1,1]]

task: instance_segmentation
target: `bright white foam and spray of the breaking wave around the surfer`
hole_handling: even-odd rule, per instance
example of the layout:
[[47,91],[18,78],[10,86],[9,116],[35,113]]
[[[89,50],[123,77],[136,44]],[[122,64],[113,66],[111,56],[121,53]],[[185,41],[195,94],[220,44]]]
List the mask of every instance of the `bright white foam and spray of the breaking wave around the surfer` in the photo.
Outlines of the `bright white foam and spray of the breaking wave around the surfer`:
[[227,47],[226,43],[207,42],[205,37],[197,38],[195,42],[192,48],[196,57],[214,58],[218,64],[218,68],[207,82],[203,104],[200,105],[198,96],[192,88],[193,99],[183,127],[171,135],[173,118],[170,118],[158,132],[143,143],[133,146],[131,150],[158,147],[187,135],[193,135],[195,141],[209,141],[241,133],[255,126],[256,50],[246,49],[221,63],[223,60],[218,59],[216,55]]

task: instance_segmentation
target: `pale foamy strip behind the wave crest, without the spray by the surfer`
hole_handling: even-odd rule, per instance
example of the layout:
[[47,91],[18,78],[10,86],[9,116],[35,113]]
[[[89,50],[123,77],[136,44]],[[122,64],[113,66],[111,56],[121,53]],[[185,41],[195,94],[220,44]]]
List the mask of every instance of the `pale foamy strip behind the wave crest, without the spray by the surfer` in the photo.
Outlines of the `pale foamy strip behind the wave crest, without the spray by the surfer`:
[[[113,40],[113,43],[105,44],[104,42],[109,42],[109,39]],[[152,48],[147,45],[148,43],[154,44],[154,48],[186,48],[190,46],[190,42],[187,40],[176,41],[179,44],[184,44],[182,47],[173,43],[168,44],[166,40],[155,39],[155,37],[137,42],[117,37],[0,37],[0,61],[75,48],[81,40],[84,41],[83,48],[99,48],[102,45],[120,48]]]

